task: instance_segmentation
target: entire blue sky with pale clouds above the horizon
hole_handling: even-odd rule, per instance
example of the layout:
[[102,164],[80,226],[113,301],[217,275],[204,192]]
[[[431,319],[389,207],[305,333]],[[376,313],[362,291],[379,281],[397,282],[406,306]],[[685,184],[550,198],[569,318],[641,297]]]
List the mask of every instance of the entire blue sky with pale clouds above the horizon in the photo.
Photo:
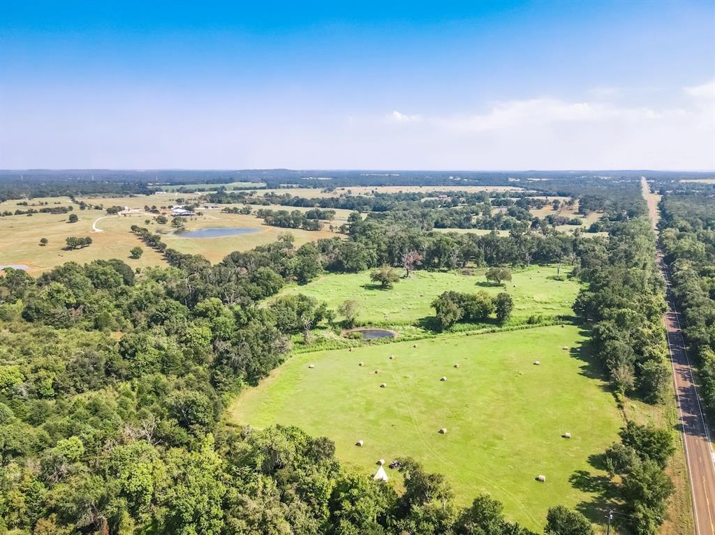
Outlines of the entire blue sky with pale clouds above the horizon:
[[0,3],[0,168],[715,169],[715,2]]

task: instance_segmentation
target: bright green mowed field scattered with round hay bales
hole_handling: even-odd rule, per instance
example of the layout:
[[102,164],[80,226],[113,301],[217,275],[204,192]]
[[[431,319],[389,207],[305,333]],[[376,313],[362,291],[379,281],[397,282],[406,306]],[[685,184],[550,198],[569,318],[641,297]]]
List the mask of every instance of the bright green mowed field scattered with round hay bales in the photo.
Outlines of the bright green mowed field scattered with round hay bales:
[[[247,389],[227,417],[327,436],[337,456],[366,476],[378,459],[412,456],[445,474],[459,504],[488,492],[509,517],[541,529],[550,506],[591,501],[569,478],[600,474],[588,458],[612,444],[622,425],[585,342],[574,326],[551,326],[438,336],[417,348],[395,342],[297,354]],[[566,431],[571,439],[561,438]],[[536,481],[539,474],[546,483]],[[395,471],[388,475],[400,484]]]

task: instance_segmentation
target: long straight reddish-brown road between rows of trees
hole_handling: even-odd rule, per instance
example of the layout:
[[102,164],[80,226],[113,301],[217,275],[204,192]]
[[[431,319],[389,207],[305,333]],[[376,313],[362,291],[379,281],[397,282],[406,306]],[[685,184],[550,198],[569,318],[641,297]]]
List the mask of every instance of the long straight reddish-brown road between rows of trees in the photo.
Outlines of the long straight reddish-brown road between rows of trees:
[[[651,221],[656,228],[658,214],[654,196],[649,194],[645,179],[641,180],[641,185],[644,197],[648,201]],[[685,349],[679,312],[671,292],[668,268],[661,253],[658,254],[658,263],[668,284],[666,292],[668,310],[664,316],[664,323],[673,364],[679,423],[693,496],[696,535],[715,535],[715,456],[694,379],[694,369]]]

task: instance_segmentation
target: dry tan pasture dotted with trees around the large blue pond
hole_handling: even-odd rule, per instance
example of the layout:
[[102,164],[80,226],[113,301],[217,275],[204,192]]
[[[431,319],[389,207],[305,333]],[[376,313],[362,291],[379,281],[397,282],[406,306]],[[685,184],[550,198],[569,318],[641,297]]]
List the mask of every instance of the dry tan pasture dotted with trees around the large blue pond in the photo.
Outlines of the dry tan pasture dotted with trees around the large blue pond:
[[[109,206],[129,206],[132,209],[149,206],[171,206],[177,194],[155,194],[126,197],[82,197],[91,204],[102,204],[105,208]],[[187,196],[187,199],[189,196]],[[15,211],[16,209],[27,209],[29,207],[39,209],[40,201],[47,201],[51,206],[70,206],[71,202],[66,197],[34,199],[29,201],[30,206],[17,204],[18,201],[7,201],[0,204],[0,211]],[[34,204],[34,206],[33,206]],[[272,209],[284,209],[282,206],[266,206]],[[306,208],[300,209],[302,211]],[[347,210],[337,211],[335,221],[336,227],[345,221],[350,213]],[[262,219],[255,216],[242,216],[240,214],[223,214],[220,210],[205,211],[203,216],[187,219],[185,221],[188,230],[203,229],[209,226],[231,226],[231,227],[252,227],[259,229],[255,234],[244,234],[240,236],[228,236],[225,238],[189,239],[171,234],[172,227],[169,224],[156,224],[152,214],[129,214],[127,216],[107,216],[104,210],[79,210],[79,206],[74,205],[74,211],[79,217],[77,223],[68,223],[69,214],[34,214],[28,216],[6,216],[0,218],[0,265],[24,264],[29,266],[29,272],[37,274],[46,271],[67,261],[77,261],[80,264],[96,259],[119,258],[127,262],[132,267],[165,266],[166,262],[162,255],[149,249],[137,239],[130,231],[134,224],[146,226],[152,232],[165,234],[163,241],[172,249],[177,249],[189,254],[202,254],[209,261],[215,263],[221,261],[232,251],[246,251],[258,245],[265,245],[275,241],[280,234],[290,233],[295,237],[295,246],[298,247],[308,241],[315,241],[321,238],[345,237],[328,229],[327,224],[322,231],[304,231],[300,229],[280,229],[275,226],[263,224]],[[100,219],[101,218],[101,219]],[[145,221],[149,219],[147,224]],[[97,229],[102,232],[95,232],[92,224],[96,221]],[[77,251],[63,251],[65,239],[69,236],[89,236],[92,238],[92,245]],[[47,246],[39,246],[41,238],[47,238]],[[129,249],[134,246],[141,246],[144,254],[139,260],[129,259]]]

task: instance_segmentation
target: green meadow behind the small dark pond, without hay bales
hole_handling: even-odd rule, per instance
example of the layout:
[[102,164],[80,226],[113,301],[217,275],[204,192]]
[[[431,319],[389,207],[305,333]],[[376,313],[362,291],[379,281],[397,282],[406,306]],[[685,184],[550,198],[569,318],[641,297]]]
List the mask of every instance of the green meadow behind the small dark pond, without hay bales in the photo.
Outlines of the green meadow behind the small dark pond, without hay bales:
[[[566,274],[570,268],[561,268]],[[305,294],[337,309],[347,299],[358,301],[358,320],[363,324],[415,324],[434,315],[430,303],[444,291],[475,293],[486,291],[496,295],[507,291],[514,299],[511,323],[523,323],[529,316],[571,315],[571,306],[579,283],[573,279],[557,281],[556,266],[530,266],[514,271],[506,286],[486,282],[485,269],[473,270],[473,275],[455,272],[413,271],[408,279],[400,279],[393,289],[380,289],[370,281],[370,271],[357,274],[330,274],[303,286],[290,286],[282,294]]]

